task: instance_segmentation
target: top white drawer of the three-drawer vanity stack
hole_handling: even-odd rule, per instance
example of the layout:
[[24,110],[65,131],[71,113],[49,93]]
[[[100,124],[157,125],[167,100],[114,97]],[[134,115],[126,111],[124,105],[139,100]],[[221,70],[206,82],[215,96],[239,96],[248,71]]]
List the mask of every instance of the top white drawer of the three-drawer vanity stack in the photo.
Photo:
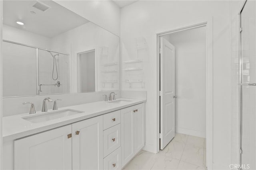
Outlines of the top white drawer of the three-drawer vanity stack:
[[121,111],[113,111],[103,115],[103,129],[108,129],[120,123]]

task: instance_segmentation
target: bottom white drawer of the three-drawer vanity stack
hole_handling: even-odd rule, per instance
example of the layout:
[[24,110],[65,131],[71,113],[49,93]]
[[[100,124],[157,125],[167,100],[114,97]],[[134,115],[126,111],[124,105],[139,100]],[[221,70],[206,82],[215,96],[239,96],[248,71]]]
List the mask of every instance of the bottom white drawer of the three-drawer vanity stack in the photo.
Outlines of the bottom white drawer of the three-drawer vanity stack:
[[121,169],[121,147],[104,158],[104,170]]

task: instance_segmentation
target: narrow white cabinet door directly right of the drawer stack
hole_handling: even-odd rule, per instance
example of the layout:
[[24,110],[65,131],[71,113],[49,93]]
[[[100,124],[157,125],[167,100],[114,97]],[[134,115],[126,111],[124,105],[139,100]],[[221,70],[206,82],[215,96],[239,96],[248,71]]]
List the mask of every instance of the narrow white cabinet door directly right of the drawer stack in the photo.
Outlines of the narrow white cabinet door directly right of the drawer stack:
[[134,107],[121,110],[122,167],[134,156]]

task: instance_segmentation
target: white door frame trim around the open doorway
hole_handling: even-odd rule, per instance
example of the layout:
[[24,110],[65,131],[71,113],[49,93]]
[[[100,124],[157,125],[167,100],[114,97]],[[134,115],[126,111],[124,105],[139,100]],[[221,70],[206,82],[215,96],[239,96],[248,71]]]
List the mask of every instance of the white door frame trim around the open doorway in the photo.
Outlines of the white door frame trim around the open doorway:
[[201,23],[195,23],[186,27],[178,27],[170,31],[165,31],[156,34],[157,38],[157,54],[156,54],[156,68],[157,68],[157,151],[160,150],[160,36],[175,33],[178,31],[184,31],[188,29],[194,29],[199,27],[206,27],[206,166],[208,170],[212,170],[213,166],[213,56],[212,56],[212,18],[208,18]]

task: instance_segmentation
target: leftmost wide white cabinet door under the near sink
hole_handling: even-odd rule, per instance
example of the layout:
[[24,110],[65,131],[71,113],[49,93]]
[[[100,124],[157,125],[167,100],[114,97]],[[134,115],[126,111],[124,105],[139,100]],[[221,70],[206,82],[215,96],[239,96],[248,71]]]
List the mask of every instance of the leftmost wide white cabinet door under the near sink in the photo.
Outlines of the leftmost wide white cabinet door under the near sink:
[[15,140],[14,169],[72,169],[72,138],[67,136],[71,130],[67,125]]

